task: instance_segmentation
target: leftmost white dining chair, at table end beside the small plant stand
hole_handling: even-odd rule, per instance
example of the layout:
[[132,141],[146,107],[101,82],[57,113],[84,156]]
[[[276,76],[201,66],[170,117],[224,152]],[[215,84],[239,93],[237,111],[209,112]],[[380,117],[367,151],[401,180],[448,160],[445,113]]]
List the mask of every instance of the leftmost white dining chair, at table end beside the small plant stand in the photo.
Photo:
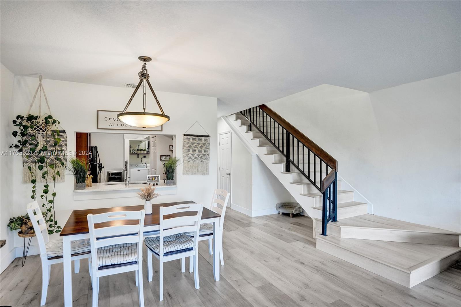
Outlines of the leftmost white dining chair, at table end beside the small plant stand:
[[[40,306],[47,301],[48,284],[50,283],[51,265],[63,262],[62,240],[50,240],[47,224],[41,213],[37,201],[27,204],[27,213],[34,226],[35,237],[37,238],[41,260],[41,301]],[[89,239],[76,240],[71,243],[71,260],[74,260],[74,272],[80,270],[80,259],[90,257]],[[89,262],[88,262],[89,263]]]

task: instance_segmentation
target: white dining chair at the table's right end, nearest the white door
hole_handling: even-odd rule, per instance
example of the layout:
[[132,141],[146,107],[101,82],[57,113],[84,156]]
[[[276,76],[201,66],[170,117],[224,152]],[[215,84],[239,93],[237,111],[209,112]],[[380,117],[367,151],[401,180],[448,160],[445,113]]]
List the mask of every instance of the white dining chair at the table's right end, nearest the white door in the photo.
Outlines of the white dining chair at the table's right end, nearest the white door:
[[[217,240],[219,246],[219,259],[221,261],[221,266],[224,266],[224,256],[223,256],[223,230],[224,230],[224,217],[226,214],[227,203],[229,202],[229,197],[231,194],[223,189],[215,189],[213,193],[213,198],[211,200],[211,205],[209,209],[221,215],[219,218],[219,227],[217,227]],[[193,237],[194,233],[189,232],[188,236]],[[208,252],[210,255],[213,254],[213,224],[204,223],[200,225],[200,234],[199,241],[208,240]],[[189,272],[193,272],[192,258],[189,258]]]

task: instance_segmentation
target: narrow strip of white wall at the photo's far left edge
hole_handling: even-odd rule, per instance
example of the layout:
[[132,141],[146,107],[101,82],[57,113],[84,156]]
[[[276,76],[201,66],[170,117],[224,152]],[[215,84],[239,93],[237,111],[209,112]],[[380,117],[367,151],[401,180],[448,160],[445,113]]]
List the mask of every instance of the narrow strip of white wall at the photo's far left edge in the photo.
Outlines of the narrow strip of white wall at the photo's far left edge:
[[[0,64],[0,148],[5,153],[12,149],[9,147],[14,142],[11,123],[16,117],[12,105],[13,82],[13,73]],[[3,272],[16,258],[14,254],[15,234],[6,227],[8,220],[14,216],[12,206],[14,186],[11,180],[13,159],[11,155],[2,154],[0,156],[0,239],[6,240],[6,244],[0,248],[0,272]]]

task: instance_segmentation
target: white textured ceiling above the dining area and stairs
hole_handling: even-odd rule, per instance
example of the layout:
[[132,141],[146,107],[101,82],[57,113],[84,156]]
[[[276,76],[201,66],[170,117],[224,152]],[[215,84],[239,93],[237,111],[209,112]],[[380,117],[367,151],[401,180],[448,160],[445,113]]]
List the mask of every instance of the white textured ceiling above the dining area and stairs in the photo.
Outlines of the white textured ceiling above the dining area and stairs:
[[[460,1],[1,1],[15,74],[219,98],[219,115],[328,83],[370,92],[461,70]],[[167,103],[166,101],[164,103]]]

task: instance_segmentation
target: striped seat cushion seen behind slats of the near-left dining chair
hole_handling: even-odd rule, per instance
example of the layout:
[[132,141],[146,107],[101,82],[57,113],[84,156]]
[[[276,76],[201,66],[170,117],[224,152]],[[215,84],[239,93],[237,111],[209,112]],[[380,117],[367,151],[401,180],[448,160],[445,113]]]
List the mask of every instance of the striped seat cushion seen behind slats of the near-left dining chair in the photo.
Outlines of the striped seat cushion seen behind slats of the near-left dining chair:
[[98,266],[113,266],[124,263],[136,263],[138,260],[137,243],[123,243],[98,248]]

